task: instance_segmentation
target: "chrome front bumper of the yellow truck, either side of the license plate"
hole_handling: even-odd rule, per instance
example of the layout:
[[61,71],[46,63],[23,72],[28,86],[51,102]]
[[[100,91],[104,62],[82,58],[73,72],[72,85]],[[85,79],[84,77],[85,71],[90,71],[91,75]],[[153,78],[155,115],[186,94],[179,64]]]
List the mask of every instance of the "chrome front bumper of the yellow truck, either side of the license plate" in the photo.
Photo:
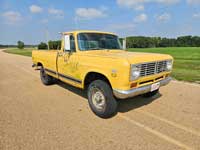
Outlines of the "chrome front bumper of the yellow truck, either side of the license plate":
[[[170,81],[172,80],[171,77],[167,77],[160,82],[160,86],[165,86],[167,85]],[[119,98],[119,99],[126,99],[126,98],[129,98],[129,97],[134,97],[134,96],[137,96],[137,95],[141,95],[141,94],[145,94],[145,93],[148,93],[151,91],[151,85],[145,85],[145,86],[142,86],[142,87],[139,87],[139,88],[135,88],[135,89],[131,89],[131,90],[117,90],[117,89],[114,89],[113,90],[113,93],[115,95],[115,97]]]

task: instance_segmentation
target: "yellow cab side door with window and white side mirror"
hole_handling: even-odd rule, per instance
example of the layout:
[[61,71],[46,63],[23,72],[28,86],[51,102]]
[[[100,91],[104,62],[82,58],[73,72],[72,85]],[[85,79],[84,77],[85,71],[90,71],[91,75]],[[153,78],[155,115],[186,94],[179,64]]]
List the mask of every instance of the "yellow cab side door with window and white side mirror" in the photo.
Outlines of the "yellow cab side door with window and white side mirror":
[[63,49],[58,52],[57,66],[60,80],[80,87],[78,75],[78,58],[73,34],[63,36]]

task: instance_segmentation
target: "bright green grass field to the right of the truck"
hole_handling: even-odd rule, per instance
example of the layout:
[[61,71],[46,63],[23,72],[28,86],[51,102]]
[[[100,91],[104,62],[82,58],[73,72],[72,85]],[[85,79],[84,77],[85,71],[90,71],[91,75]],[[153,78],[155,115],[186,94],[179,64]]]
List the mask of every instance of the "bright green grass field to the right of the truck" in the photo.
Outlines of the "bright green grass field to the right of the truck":
[[200,47],[131,48],[129,51],[169,54],[174,57],[172,76],[200,83]]

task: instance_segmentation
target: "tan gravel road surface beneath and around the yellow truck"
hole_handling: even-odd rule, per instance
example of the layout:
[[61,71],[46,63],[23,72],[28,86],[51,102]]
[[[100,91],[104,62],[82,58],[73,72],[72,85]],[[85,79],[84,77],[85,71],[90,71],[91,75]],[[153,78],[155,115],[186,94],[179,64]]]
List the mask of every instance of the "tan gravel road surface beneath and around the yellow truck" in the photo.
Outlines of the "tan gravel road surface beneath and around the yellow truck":
[[0,51],[0,150],[200,149],[200,85],[172,81],[100,119],[83,91],[44,86],[31,58]]

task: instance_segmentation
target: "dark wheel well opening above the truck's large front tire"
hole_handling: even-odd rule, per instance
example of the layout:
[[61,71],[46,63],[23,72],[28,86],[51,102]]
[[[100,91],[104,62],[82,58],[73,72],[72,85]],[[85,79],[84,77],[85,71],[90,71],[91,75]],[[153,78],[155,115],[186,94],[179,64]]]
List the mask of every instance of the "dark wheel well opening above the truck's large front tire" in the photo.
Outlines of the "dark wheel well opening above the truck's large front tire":
[[84,88],[87,88],[89,86],[89,84],[95,80],[103,80],[106,83],[108,83],[108,85],[112,88],[109,80],[107,79],[106,76],[104,76],[103,74],[97,73],[97,72],[89,72],[84,80]]

